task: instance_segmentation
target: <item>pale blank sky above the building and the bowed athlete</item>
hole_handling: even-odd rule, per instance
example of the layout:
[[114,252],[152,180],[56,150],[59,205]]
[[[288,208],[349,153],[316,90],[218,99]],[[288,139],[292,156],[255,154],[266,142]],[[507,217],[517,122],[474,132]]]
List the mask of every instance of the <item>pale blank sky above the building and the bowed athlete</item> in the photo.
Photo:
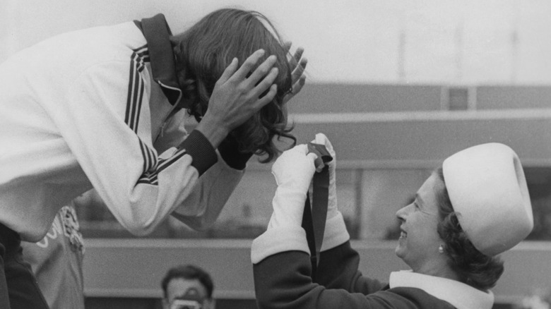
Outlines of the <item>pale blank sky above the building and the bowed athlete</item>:
[[0,61],[160,12],[179,32],[226,6],[264,13],[305,47],[314,83],[551,84],[547,0],[0,0]]

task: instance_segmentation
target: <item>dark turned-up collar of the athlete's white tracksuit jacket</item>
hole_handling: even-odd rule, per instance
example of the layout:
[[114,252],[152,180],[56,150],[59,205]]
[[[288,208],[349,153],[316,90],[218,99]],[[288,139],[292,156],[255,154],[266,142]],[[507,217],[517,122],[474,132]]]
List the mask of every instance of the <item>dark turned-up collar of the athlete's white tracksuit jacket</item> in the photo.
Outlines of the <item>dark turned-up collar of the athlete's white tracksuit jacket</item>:
[[172,32],[165,16],[157,14],[141,21],[134,20],[134,23],[146,38],[153,80],[161,86],[168,102],[172,105],[177,104],[182,99],[182,90],[176,77],[174,52],[169,40]]

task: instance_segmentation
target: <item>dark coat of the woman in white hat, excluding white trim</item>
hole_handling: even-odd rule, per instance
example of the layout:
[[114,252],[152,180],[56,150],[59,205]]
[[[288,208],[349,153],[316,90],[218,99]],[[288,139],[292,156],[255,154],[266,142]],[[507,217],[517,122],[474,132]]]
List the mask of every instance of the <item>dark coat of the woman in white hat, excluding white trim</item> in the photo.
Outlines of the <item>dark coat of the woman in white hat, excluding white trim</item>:
[[[259,308],[456,308],[423,289],[390,289],[388,284],[364,277],[357,269],[359,261],[358,253],[347,241],[322,253],[319,278],[312,282],[307,253],[294,250],[270,255],[254,265]],[[430,279],[431,276],[426,277]]]

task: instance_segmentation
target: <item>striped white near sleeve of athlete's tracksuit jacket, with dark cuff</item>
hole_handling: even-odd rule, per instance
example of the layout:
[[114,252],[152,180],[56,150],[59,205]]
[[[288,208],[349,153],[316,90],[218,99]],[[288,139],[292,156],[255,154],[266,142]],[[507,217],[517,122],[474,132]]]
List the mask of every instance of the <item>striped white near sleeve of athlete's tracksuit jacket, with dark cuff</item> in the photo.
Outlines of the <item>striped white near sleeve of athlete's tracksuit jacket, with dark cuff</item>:
[[170,150],[153,148],[149,77],[128,62],[92,66],[74,78],[60,106],[48,111],[84,174],[114,217],[148,234],[191,194],[217,160],[199,132]]

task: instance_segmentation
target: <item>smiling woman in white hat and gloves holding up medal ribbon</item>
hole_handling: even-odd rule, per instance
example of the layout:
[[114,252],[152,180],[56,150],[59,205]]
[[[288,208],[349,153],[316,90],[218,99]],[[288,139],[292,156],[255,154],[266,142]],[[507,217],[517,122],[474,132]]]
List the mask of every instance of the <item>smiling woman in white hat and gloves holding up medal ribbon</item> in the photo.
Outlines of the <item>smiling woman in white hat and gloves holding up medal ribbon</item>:
[[[328,140],[325,145],[333,149]],[[285,154],[294,159],[283,160]],[[503,272],[497,255],[533,228],[526,179],[510,147],[488,143],[448,157],[415,200],[396,213],[401,222],[396,255],[411,270],[392,272],[389,284],[358,270],[359,255],[350,246],[342,215],[331,205],[334,182],[312,279],[306,237],[294,218],[306,199],[305,190],[296,188],[308,187],[314,159],[298,145],[273,165],[278,183],[273,215],[251,249],[259,308],[492,308],[490,289]],[[311,168],[297,169],[293,162]],[[329,171],[334,175],[334,164]]]

